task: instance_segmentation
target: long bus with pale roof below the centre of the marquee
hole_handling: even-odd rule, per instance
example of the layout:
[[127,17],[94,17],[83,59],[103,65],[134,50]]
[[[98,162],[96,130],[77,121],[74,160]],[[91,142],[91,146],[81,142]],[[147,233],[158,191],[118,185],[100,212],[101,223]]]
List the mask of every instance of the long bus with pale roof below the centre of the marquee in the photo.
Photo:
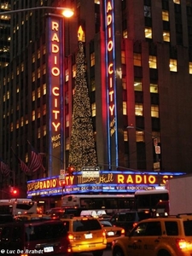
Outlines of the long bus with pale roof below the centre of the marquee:
[[134,207],[132,195],[64,195],[61,207],[78,207],[86,210],[105,210],[106,213],[131,210]]

